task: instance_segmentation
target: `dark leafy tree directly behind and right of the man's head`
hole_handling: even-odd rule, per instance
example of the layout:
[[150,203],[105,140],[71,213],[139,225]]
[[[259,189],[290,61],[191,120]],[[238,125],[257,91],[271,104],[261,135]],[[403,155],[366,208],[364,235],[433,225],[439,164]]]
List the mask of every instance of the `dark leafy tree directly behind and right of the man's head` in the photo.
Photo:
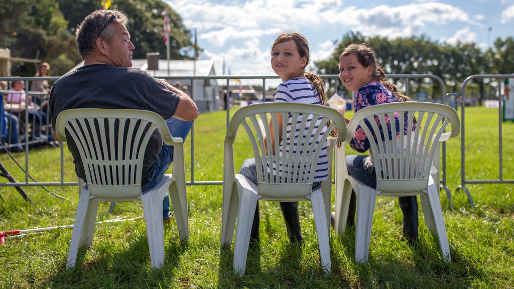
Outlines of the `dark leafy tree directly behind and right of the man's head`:
[[[91,12],[102,9],[100,0],[57,0],[68,21],[68,29],[75,28]],[[146,52],[159,52],[166,58],[166,45],[162,40],[164,11],[170,15],[170,58],[191,59],[193,46],[191,32],[182,24],[180,16],[161,0],[113,0],[109,9],[124,11],[128,16],[128,32],[134,43],[134,58],[146,58]]]

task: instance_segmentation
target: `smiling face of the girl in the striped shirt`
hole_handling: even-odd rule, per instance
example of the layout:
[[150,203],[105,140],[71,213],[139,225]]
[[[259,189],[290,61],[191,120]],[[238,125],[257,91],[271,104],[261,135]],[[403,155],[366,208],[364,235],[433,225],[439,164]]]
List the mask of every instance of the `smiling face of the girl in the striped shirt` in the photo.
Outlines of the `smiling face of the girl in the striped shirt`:
[[277,43],[271,50],[271,67],[282,81],[303,77],[307,57],[301,57],[295,41]]

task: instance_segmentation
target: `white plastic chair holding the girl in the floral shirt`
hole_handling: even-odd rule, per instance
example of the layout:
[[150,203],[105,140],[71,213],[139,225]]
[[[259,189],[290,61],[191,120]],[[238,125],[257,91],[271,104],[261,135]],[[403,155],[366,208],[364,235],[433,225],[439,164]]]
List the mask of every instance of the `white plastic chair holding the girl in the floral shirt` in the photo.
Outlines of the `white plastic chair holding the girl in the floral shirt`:
[[[374,116],[378,117],[382,126],[386,124],[386,117],[390,118],[391,132],[395,136],[395,112],[399,115],[399,137],[390,140],[387,137],[387,128],[383,127],[385,140],[375,143],[364,119],[369,120],[374,132],[378,132],[379,127]],[[415,132],[409,129],[407,135],[403,135],[404,117],[408,121],[408,128],[412,128],[414,115],[417,119]],[[451,131],[445,133],[450,123]],[[456,137],[460,133],[461,123],[457,112],[447,105],[424,102],[396,102],[365,107],[348,123],[346,143],[352,140],[357,125],[364,129],[371,143],[377,172],[377,188],[375,190],[365,186],[348,175],[344,146],[337,149],[336,233],[340,236],[344,233],[353,188],[357,195],[355,260],[365,263],[368,261],[376,196],[420,195],[425,223],[437,235],[443,258],[451,261],[443,212],[439,203],[439,188],[434,184],[431,176],[434,172],[431,172],[431,168],[434,154],[438,152],[438,142]],[[378,133],[377,139],[380,139]]]

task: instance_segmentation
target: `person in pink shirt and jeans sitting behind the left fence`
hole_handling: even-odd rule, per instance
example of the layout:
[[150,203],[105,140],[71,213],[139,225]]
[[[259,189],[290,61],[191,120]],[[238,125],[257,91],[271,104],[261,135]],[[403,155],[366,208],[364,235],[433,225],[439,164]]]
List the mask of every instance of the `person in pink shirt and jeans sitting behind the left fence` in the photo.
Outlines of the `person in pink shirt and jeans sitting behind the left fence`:
[[[21,112],[20,116],[22,117],[22,120],[24,118],[24,105],[32,103],[32,97],[29,96],[28,99],[25,97],[25,82],[23,80],[14,80],[11,82],[11,89],[9,89],[9,93],[7,94],[7,103],[12,104],[19,104],[20,109],[18,110],[11,110],[11,112]],[[32,134],[38,134],[39,133],[39,125],[46,124],[46,113],[36,111],[36,107],[34,106],[34,109],[28,110],[29,114],[29,123],[32,123]]]

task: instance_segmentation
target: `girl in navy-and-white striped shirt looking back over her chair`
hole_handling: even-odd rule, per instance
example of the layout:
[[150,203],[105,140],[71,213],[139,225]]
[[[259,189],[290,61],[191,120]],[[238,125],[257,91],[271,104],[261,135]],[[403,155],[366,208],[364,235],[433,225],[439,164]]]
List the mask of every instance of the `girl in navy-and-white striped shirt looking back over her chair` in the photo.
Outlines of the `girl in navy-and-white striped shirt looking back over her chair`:
[[[319,76],[305,71],[305,67],[308,65],[308,63],[309,46],[303,35],[296,32],[282,33],[279,35],[271,47],[271,67],[273,68],[273,71],[282,79],[282,83],[277,88],[277,93],[275,95],[276,102],[299,102],[326,105],[327,100],[325,96],[323,80]],[[292,117],[289,116],[288,118]],[[281,114],[277,115],[277,120],[278,123],[282,123]],[[289,119],[287,123],[287,136],[282,140],[284,143],[280,144],[280,152],[282,152],[282,148],[289,147],[289,142],[291,140],[295,141],[295,139],[298,139],[298,137],[295,137],[294,135],[291,137],[291,120]],[[270,137],[272,140],[272,153],[275,153],[272,124],[269,125],[269,128],[271,133]],[[282,126],[279,125],[278,128],[279,135],[282,135]],[[299,132],[297,132],[297,134],[299,134]],[[266,141],[264,143],[267,145]],[[268,149],[266,148],[266,151],[267,150]],[[271,168],[268,169],[268,171],[270,170]],[[255,184],[258,183],[255,159],[245,160],[239,173],[250,178]],[[321,181],[325,180],[327,177],[328,157],[325,142],[323,144],[322,152],[316,166],[316,172],[313,179],[313,188],[319,186]],[[286,224],[289,240],[292,243],[303,243],[304,239],[300,229],[298,202],[280,202],[280,208],[282,210],[282,214],[284,215],[284,221]],[[255,208],[250,240],[252,242],[259,240],[259,202]]]

